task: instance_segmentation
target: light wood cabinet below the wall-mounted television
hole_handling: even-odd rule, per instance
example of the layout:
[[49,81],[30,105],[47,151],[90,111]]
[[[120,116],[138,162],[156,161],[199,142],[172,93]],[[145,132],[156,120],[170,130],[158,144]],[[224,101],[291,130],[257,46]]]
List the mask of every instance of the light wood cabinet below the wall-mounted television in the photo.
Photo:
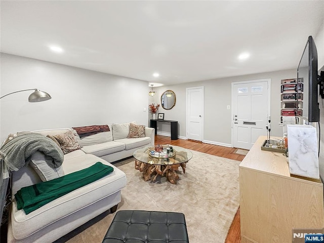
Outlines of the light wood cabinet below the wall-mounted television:
[[239,165],[242,242],[292,242],[293,229],[324,227],[323,184],[292,177],[286,157],[258,138]]

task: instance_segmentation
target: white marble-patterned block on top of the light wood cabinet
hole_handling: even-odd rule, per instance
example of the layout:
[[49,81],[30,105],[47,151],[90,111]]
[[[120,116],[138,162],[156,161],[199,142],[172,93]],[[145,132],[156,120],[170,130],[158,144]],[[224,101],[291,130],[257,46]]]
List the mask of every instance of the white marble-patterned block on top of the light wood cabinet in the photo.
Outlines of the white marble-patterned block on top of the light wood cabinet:
[[289,170],[293,175],[319,179],[316,129],[287,125]]

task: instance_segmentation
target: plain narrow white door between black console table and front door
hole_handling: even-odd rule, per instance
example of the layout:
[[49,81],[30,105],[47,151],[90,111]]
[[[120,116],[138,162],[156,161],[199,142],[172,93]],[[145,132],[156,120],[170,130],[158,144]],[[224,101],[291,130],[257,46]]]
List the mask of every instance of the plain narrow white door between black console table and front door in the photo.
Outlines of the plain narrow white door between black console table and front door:
[[187,139],[203,141],[204,87],[187,88]]

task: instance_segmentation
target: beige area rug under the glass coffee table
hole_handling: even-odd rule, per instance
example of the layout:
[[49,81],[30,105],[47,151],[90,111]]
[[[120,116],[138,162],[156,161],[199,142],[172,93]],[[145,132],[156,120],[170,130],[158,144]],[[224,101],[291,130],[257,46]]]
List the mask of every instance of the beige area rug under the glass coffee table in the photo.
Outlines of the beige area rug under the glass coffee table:
[[[158,177],[154,183],[143,181],[142,173],[134,169],[134,158],[115,164],[127,175],[117,211],[181,212],[185,215],[190,243],[224,242],[239,206],[240,162],[197,151],[192,153],[186,173],[180,169],[176,185],[165,177]],[[101,242],[114,215],[104,213],[81,226],[82,232],[72,231],[57,242]]]

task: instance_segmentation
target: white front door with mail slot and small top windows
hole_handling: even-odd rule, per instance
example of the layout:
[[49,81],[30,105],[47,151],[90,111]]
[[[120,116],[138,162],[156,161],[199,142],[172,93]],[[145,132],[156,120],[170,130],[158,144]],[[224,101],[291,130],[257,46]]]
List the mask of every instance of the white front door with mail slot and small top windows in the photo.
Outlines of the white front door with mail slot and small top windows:
[[270,79],[232,84],[233,147],[250,149],[259,136],[267,134],[269,86]]

